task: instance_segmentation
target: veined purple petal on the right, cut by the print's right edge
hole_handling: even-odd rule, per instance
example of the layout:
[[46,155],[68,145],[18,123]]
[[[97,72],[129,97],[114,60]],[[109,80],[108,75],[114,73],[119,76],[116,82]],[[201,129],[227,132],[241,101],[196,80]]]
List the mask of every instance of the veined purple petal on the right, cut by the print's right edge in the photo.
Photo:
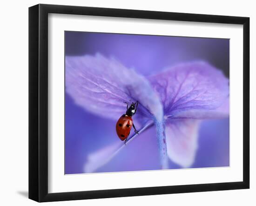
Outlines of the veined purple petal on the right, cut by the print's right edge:
[[166,116],[211,119],[229,114],[228,106],[223,107],[229,101],[229,80],[206,62],[174,66],[148,79]]

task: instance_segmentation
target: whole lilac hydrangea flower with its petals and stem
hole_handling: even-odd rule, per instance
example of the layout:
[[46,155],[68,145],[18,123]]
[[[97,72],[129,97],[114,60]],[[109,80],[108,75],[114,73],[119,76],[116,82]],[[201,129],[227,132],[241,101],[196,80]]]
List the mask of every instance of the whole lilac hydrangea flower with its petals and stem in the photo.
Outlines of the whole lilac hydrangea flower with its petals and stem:
[[[135,124],[139,133],[155,126],[162,169],[168,169],[168,158],[191,166],[200,122],[229,116],[229,80],[203,61],[167,67],[149,77],[101,54],[66,56],[65,65],[66,91],[88,112],[118,120],[125,112],[123,102],[139,101]],[[126,146],[117,138],[90,154],[85,172],[108,163],[137,136],[130,136]]]

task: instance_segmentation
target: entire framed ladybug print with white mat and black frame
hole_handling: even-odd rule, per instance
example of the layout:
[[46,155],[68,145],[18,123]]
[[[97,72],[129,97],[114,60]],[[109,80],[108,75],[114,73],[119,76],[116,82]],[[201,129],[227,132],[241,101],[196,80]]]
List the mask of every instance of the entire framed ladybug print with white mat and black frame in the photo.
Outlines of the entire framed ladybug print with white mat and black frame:
[[29,198],[249,188],[249,18],[29,8]]

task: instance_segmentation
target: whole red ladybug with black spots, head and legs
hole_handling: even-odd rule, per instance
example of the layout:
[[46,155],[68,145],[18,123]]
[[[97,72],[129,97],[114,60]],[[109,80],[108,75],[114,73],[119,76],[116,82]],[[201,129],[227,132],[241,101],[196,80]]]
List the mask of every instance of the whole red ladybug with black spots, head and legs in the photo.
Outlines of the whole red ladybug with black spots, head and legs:
[[[130,134],[130,131],[132,129],[132,126],[134,128],[135,133],[139,133],[133,123],[133,119],[132,116],[135,115],[136,110],[138,108],[138,101],[136,101],[135,103],[132,102],[132,104],[129,106],[129,104],[127,102],[124,102],[127,104],[127,110],[126,113],[123,114],[119,120],[116,122],[116,133],[118,135],[118,137],[120,138],[120,140],[125,140],[124,144],[126,144],[126,141],[128,140],[128,136]],[[136,108],[135,108],[136,106]]]

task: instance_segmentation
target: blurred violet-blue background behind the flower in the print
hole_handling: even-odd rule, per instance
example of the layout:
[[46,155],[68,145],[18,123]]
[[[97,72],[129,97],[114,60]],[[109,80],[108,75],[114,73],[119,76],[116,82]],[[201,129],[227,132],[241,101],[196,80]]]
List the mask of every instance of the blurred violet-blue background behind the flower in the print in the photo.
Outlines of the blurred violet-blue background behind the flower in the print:
[[[145,76],[177,63],[205,60],[229,77],[228,39],[65,32],[66,56],[95,53],[114,56]],[[66,93],[66,174],[84,173],[88,154],[116,142],[115,123],[86,112]],[[156,142],[153,127],[96,172],[157,170],[160,162]],[[205,120],[200,127],[199,148],[191,167],[214,166],[229,166],[229,119]],[[169,167],[181,168],[171,161]]]

